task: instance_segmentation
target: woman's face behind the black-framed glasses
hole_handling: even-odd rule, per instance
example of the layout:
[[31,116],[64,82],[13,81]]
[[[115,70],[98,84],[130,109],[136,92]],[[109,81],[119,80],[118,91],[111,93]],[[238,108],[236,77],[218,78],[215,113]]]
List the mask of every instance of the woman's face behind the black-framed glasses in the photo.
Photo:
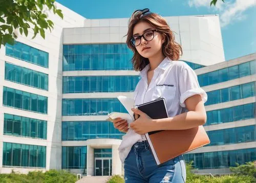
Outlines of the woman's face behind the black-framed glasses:
[[[155,30],[155,28],[152,27],[147,22],[141,21],[135,25],[133,29],[133,36],[136,36],[136,35],[141,36],[142,34],[144,34],[149,30]],[[163,43],[164,43],[164,36],[162,36],[159,32],[154,31],[154,38],[151,41],[147,41],[143,37],[141,37],[140,44],[135,48],[142,57],[151,58],[162,52]]]

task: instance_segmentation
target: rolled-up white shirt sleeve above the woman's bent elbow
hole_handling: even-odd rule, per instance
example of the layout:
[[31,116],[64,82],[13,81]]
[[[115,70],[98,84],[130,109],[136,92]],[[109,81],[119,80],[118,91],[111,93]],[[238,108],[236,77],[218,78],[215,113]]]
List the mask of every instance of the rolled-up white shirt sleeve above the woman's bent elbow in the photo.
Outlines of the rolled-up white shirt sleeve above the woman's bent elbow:
[[207,94],[200,87],[197,75],[187,64],[184,64],[179,77],[180,106],[186,107],[185,100],[194,95],[200,95],[202,101],[207,101]]

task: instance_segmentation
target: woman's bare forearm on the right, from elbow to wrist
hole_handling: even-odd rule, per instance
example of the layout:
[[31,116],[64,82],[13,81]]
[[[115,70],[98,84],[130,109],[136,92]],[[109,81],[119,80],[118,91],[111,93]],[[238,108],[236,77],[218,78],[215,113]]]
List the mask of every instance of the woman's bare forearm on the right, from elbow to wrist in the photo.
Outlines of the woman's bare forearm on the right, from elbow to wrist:
[[205,112],[188,111],[175,117],[152,120],[152,131],[188,129],[203,125],[205,122]]

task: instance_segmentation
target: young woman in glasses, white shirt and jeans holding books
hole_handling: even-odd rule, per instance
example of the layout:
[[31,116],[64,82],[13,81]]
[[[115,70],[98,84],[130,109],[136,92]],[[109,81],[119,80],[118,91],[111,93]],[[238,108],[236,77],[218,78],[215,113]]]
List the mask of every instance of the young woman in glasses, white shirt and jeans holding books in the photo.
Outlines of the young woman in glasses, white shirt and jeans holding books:
[[144,134],[203,125],[207,95],[200,88],[195,72],[185,62],[177,61],[182,54],[181,46],[174,41],[173,32],[160,15],[149,9],[135,11],[129,21],[126,43],[134,52],[132,62],[141,76],[134,92],[135,105],[164,97],[169,118],[153,120],[133,108],[139,118],[130,124],[130,129],[125,120],[114,120],[115,128],[120,131],[129,129],[141,135],[124,160],[125,182],[185,182],[183,156],[157,166]]

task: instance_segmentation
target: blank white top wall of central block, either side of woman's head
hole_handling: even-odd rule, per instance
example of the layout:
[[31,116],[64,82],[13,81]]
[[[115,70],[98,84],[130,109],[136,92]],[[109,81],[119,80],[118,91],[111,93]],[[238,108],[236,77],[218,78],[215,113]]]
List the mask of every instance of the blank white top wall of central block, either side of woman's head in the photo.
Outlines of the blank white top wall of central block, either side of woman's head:
[[[218,15],[164,18],[182,46],[181,60],[201,65],[225,61]],[[63,44],[123,43],[128,21],[129,18],[86,19],[83,28],[64,29]]]

